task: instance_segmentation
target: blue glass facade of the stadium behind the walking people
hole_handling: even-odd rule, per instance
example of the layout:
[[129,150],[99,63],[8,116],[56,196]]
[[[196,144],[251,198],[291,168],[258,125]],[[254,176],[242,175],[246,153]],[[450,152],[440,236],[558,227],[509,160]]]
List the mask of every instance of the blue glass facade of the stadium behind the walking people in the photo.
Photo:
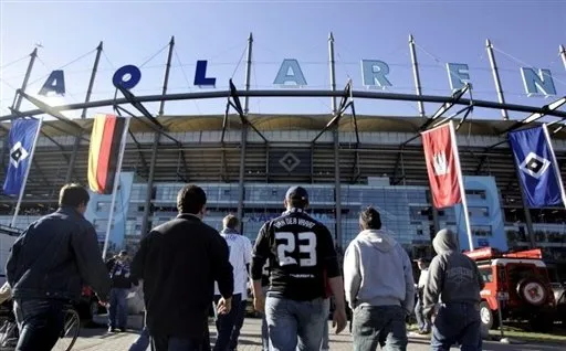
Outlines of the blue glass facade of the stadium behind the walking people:
[[[149,228],[163,224],[177,215],[176,198],[184,183],[156,183],[150,190],[148,209]],[[207,193],[208,203],[205,222],[217,230],[222,227],[222,219],[238,213],[239,188],[237,183],[200,183]],[[263,223],[279,216],[283,211],[283,199],[289,187],[295,184],[245,183],[243,193],[243,234],[252,242]],[[111,242],[115,248],[126,247],[135,251],[142,237],[145,202],[148,187],[133,182],[128,189],[124,183],[124,202],[117,206],[113,223]],[[310,214],[324,223],[336,237],[336,208],[333,184],[303,184],[310,194]],[[500,195],[491,177],[465,177],[468,212],[474,245],[506,248],[528,247],[528,238],[523,224],[509,222],[515,211],[501,208]],[[461,243],[468,242],[463,225],[461,205],[433,211],[430,204],[428,187],[405,185],[343,185],[342,189],[342,242],[337,246],[345,248],[359,233],[358,215],[371,205],[381,214],[384,230],[403,245],[412,256],[431,256],[431,237],[434,234],[434,221],[438,227],[448,227],[460,234]],[[107,195],[105,195],[107,196]],[[109,210],[109,196],[93,199],[90,205],[92,222],[104,238]],[[518,212],[518,211],[516,211]],[[43,213],[41,213],[43,214]],[[22,213],[17,227],[24,228],[41,215]],[[11,215],[0,215],[0,224],[9,225]],[[565,222],[566,223],[566,222]],[[535,235],[542,247],[564,246],[565,223],[535,223]],[[503,227],[503,225],[505,226]],[[500,237],[501,236],[501,237]],[[114,237],[114,238],[113,238]],[[117,237],[117,238],[116,238]],[[502,244],[503,242],[503,244]],[[505,245],[505,247],[500,247]],[[564,254],[557,258],[566,258]],[[564,257],[563,257],[564,256]]]

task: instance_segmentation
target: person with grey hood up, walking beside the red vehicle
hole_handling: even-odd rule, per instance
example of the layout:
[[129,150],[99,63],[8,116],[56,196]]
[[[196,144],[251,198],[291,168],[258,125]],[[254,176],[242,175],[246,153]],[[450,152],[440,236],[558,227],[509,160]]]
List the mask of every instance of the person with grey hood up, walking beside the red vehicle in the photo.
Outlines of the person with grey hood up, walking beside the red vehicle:
[[482,349],[480,290],[483,279],[475,263],[460,253],[458,238],[441,230],[432,241],[437,256],[424,285],[424,315],[431,317],[440,296],[440,309],[432,326],[433,351],[448,351],[458,342],[462,351]]

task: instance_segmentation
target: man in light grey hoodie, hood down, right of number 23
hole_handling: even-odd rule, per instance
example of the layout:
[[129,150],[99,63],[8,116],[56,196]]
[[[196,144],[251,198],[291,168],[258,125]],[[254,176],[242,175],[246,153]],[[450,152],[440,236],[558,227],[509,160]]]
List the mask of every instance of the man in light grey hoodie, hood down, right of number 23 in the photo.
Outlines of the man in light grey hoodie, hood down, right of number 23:
[[355,351],[373,351],[385,340],[387,350],[407,350],[405,317],[413,308],[415,281],[407,252],[381,232],[379,212],[359,215],[361,232],[344,256],[346,300],[354,310]]

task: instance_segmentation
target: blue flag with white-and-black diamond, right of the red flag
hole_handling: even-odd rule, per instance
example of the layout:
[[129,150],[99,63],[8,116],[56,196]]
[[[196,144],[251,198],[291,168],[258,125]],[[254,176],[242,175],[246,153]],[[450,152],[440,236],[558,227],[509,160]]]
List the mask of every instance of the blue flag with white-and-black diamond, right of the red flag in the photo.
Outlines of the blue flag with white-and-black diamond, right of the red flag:
[[566,205],[560,170],[546,125],[509,132],[518,183],[531,209]]

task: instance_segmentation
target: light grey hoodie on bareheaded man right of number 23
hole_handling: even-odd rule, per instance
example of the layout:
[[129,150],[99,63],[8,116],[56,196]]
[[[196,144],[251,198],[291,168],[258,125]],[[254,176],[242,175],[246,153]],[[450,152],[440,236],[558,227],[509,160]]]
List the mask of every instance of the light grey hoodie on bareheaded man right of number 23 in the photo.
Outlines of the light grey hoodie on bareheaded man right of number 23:
[[381,231],[363,231],[344,255],[344,288],[352,309],[359,305],[415,304],[415,280],[407,252]]

